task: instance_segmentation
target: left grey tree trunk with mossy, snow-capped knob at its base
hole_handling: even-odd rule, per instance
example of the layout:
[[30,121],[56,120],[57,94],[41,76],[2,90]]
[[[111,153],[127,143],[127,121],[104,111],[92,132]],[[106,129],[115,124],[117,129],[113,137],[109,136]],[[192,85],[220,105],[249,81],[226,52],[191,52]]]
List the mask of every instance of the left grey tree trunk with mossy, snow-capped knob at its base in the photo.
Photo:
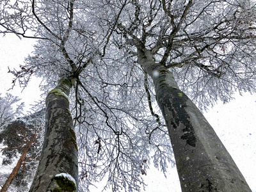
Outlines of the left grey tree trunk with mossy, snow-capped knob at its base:
[[61,79],[46,98],[42,156],[29,191],[77,191],[77,144],[68,95],[72,83]]

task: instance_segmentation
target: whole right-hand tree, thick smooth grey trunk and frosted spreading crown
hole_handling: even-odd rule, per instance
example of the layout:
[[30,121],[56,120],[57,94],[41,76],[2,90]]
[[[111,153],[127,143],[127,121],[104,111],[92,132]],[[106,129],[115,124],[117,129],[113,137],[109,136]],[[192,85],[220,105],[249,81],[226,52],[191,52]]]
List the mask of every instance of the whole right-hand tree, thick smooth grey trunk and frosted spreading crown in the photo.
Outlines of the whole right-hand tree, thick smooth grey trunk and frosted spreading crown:
[[199,106],[218,98],[227,101],[237,90],[255,92],[255,3],[102,4],[108,4],[109,15],[120,15],[113,28],[116,47],[136,55],[153,80],[182,191],[250,191],[211,125],[184,92]]

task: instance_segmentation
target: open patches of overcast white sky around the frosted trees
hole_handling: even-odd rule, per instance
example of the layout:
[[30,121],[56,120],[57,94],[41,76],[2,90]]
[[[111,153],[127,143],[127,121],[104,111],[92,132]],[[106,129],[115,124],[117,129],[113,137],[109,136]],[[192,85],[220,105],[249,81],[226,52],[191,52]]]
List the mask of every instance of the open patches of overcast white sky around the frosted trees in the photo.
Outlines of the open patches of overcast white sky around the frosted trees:
[[[12,84],[10,68],[18,68],[24,62],[24,57],[33,51],[35,40],[19,40],[17,36],[0,36],[0,93],[2,96]],[[38,81],[31,81],[28,88],[22,93],[19,85],[10,91],[19,96],[29,109],[29,104],[40,99]],[[256,86],[256,85],[255,85]],[[240,171],[253,192],[256,192],[256,94],[244,93],[243,97],[236,94],[236,99],[228,104],[221,104],[204,113],[228,152],[230,152]],[[144,177],[148,186],[145,191],[173,191],[180,192],[179,178],[176,168],[169,168],[167,178],[159,173],[156,168],[148,170]],[[99,189],[97,189],[98,191]]]

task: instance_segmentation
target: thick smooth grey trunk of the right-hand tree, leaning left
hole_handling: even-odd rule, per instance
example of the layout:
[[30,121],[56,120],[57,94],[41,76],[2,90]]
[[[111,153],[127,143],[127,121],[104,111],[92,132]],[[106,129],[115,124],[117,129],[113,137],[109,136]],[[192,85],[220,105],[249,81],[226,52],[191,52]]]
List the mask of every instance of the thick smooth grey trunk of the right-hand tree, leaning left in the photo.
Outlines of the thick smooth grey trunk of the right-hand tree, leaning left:
[[182,191],[251,191],[227,149],[172,73],[138,50],[138,63],[152,77],[172,141]]

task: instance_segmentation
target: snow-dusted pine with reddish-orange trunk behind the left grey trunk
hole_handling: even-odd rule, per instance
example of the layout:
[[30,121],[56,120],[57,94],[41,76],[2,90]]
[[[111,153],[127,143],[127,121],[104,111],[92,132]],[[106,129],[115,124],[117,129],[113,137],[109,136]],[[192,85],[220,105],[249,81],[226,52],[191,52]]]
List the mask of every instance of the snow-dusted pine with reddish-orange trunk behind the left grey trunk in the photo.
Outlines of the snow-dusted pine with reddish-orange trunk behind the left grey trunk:
[[[10,97],[10,95],[8,96]],[[6,103],[1,102],[1,106],[4,104]],[[4,179],[1,183],[1,191],[7,191],[11,184],[12,189],[28,190],[28,184],[32,181],[31,174],[35,174],[40,157],[40,143],[44,134],[43,116],[44,112],[40,111],[6,122],[1,126],[0,143],[3,144],[1,147],[3,156],[1,169],[4,170],[17,161],[10,175],[1,173],[1,177]]]

